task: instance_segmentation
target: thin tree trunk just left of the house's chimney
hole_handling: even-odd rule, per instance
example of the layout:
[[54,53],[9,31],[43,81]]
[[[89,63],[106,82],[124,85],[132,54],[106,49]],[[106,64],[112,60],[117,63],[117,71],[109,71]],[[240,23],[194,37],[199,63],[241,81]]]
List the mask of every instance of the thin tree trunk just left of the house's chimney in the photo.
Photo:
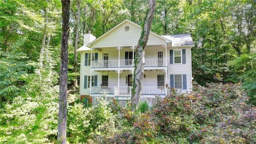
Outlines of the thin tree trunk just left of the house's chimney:
[[[80,1],[77,1],[77,19],[76,19],[76,41],[74,50],[74,72],[77,72],[77,49],[78,49],[78,38],[79,38],[79,22],[80,22]],[[75,76],[74,87],[77,87],[77,76]]]

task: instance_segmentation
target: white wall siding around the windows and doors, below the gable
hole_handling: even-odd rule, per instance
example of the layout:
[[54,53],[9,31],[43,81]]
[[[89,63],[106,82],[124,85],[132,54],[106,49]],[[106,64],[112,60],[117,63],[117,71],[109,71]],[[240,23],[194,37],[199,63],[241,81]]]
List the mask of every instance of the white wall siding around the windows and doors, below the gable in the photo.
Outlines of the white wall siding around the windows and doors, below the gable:
[[[173,49],[173,48],[171,48]],[[191,49],[190,48],[180,48],[186,49],[186,64],[173,64],[170,65],[170,49],[167,50],[167,83],[170,84],[170,75],[171,74],[186,74],[187,75],[187,89],[191,90]],[[129,48],[123,48],[120,52],[121,59],[124,59],[125,51],[132,51]],[[145,58],[146,59],[155,59],[157,58],[157,51],[163,51],[165,58],[165,49],[161,46],[150,46],[146,47]],[[94,51],[96,52],[96,51]],[[98,59],[102,60],[102,53],[108,52],[110,60],[118,60],[118,50],[115,48],[102,49],[101,52],[98,52]],[[90,51],[82,52],[82,63],[81,63],[81,95],[89,94],[89,89],[84,89],[84,75],[90,76],[90,66],[84,66],[84,55],[85,53],[91,54]],[[118,74],[115,71],[94,71],[92,75],[98,75],[98,86],[101,85],[101,76],[108,75],[108,86],[117,86],[118,83]],[[127,86],[126,76],[131,75],[130,71],[123,71],[120,74],[120,86]],[[157,75],[165,75],[162,70],[147,70],[145,71],[146,78],[142,78],[143,86],[157,86]],[[165,78],[164,78],[165,79]],[[166,82],[165,82],[166,83]]]

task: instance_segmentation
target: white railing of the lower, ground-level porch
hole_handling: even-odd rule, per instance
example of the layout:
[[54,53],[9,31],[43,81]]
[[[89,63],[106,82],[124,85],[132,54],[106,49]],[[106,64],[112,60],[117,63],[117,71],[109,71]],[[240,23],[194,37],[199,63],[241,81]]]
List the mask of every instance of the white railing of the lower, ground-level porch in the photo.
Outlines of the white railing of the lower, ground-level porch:
[[[132,92],[131,86],[92,86],[91,93],[106,92],[118,96],[130,96]],[[166,88],[164,86],[142,86],[141,94],[166,94]]]

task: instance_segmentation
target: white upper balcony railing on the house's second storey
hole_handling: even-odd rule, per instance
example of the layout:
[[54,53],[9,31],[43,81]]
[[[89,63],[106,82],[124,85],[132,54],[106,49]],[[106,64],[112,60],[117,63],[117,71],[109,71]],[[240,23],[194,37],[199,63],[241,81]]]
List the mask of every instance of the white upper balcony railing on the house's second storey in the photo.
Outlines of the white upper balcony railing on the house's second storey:
[[[119,66],[118,66],[119,63]],[[166,66],[165,59],[145,59],[145,67],[163,67]],[[92,60],[92,68],[106,67],[133,67],[132,60]]]

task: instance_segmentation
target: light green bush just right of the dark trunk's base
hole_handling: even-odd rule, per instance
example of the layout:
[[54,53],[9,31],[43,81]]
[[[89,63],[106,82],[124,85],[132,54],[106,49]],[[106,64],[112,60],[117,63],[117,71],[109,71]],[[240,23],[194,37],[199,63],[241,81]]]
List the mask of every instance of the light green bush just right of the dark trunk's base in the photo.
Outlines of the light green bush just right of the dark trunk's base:
[[68,141],[71,143],[101,143],[117,130],[116,116],[101,98],[98,107],[75,104],[68,109]]

